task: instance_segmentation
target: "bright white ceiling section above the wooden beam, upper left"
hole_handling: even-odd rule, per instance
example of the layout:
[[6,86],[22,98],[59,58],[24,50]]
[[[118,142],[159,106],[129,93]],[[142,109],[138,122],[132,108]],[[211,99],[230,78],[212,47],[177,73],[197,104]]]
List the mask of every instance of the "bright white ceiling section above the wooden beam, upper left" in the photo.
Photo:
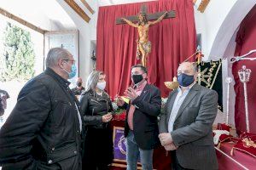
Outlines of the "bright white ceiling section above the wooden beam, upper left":
[[0,8],[44,30],[74,29],[76,26],[55,0],[0,0]]

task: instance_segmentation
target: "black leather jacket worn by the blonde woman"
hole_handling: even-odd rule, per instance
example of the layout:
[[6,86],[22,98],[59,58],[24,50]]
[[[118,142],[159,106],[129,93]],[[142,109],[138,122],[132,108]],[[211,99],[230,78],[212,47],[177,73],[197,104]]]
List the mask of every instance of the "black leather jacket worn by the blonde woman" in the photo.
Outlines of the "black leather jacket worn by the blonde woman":
[[107,127],[107,123],[102,122],[102,116],[113,112],[108,94],[102,92],[101,96],[92,90],[84,92],[80,98],[80,105],[85,125],[96,128]]

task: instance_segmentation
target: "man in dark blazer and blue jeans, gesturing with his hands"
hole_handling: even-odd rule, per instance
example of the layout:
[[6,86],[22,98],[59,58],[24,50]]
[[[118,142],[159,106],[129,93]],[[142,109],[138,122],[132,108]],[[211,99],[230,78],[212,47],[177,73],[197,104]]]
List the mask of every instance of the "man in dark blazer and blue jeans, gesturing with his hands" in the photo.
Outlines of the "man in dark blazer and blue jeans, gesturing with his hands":
[[157,116],[160,115],[161,97],[159,88],[148,84],[147,69],[143,65],[131,67],[133,87],[125,90],[131,99],[125,104],[119,98],[118,105],[126,110],[125,138],[127,170],[137,169],[140,156],[143,169],[153,169],[153,150],[160,144]]

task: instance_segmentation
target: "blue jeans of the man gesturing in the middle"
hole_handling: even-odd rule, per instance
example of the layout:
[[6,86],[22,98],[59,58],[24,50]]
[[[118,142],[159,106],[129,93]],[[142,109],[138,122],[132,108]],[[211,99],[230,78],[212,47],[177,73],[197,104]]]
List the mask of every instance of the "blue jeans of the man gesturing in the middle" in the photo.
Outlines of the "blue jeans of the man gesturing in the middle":
[[154,150],[142,150],[138,147],[134,133],[130,131],[126,138],[126,161],[127,170],[137,170],[138,156],[141,158],[143,170],[153,169],[153,151]]

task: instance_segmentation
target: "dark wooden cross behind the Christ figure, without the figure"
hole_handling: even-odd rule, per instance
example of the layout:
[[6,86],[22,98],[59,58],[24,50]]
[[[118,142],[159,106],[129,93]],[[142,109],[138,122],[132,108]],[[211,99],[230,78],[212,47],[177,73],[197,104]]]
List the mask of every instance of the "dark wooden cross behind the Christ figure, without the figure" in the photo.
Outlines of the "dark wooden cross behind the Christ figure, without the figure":
[[[143,4],[143,6],[141,7],[141,12],[143,12],[144,14],[146,14],[147,20],[157,20],[159,19],[159,17],[165,13],[165,11],[163,12],[157,12],[154,14],[147,14],[147,6]],[[176,14],[174,10],[170,10],[168,11],[168,14],[166,14],[164,19],[168,19],[168,18],[175,18]],[[137,15],[133,15],[133,16],[126,16],[126,17],[122,17],[125,18],[127,20],[131,20],[132,22],[138,22],[138,18]],[[121,20],[121,18],[116,19],[116,24],[125,24],[125,21]]]

